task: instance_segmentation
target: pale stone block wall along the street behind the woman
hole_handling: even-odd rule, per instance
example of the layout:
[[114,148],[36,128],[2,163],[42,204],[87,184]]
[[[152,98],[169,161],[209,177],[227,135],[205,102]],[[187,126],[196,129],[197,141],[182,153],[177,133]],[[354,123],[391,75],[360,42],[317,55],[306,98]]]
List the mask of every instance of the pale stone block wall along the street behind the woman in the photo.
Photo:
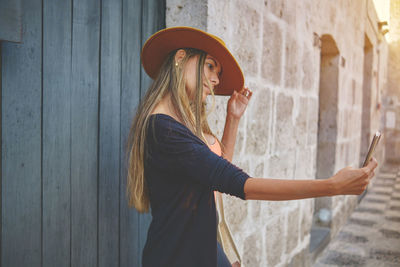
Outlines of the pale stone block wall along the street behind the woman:
[[[252,177],[316,178],[322,36],[330,36],[339,50],[332,175],[359,165],[362,113],[368,114],[370,135],[381,129],[378,88],[385,82],[387,49],[385,41],[379,41],[376,22],[372,2],[362,0],[167,0],[168,27],[194,26],[221,37],[243,69],[254,93],[240,122],[233,162]],[[372,44],[372,77],[370,108],[363,110],[365,36]],[[227,100],[216,97],[216,110],[209,117],[218,136]],[[382,151],[376,155],[379,160]],[[224,201],[243,266],[311,264],[316,200],[242,201],[224,196]],[[330,199],[331,235],[356,203],[355,196]]]

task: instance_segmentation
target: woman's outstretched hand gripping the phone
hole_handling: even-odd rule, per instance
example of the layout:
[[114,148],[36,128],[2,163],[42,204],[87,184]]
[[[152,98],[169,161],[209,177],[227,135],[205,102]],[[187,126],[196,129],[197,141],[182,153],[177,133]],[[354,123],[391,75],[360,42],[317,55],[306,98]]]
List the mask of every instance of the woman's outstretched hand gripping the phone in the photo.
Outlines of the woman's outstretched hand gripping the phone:
[[335,195],[360,195],[375,175],[378,162],[372,158],[363,168],[346,167],[338,171],[332,179]]

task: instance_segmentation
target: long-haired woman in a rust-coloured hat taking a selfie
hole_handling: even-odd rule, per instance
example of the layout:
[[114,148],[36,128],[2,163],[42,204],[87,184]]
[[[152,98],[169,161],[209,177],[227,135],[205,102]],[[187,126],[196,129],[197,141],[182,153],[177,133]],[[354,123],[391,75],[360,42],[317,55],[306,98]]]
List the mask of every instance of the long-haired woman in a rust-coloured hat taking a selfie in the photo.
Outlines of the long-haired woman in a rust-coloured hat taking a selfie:
[[375,159],[324,180],[250,177],[225,159],[232,158],[238,123],[229,111],[222,138],[225,158],[209,147],[217,139],[207,123],[206,97],[232,95],[228,109],[237,104],[240,116],[251,97],[224,43],[198,29],[175,27],[151,36],[141,56],[154,82],[129,135],[127,193],[139,212],[151,206],[143,266],[217,265],[214,191],[243,200],[361,194],[374,176]]

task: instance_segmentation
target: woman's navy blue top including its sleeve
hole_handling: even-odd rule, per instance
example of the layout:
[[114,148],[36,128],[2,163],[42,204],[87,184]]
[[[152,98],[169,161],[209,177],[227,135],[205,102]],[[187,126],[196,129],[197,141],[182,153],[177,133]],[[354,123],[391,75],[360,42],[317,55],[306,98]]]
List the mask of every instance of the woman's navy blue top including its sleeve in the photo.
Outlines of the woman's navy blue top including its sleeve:
[[168,115],[151,115],[146,133],[144,172],[152,221],[143,266],[216,267],[213,192],[245,199],[249,175]]

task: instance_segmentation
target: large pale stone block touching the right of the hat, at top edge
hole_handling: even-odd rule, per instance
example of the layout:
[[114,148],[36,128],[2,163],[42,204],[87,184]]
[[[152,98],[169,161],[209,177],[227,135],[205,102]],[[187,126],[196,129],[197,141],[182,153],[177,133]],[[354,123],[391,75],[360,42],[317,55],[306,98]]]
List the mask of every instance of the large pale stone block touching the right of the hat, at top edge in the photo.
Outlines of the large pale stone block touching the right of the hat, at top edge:
[[247,1],[235,1],[231,13],[234,36],[232,52],[247,75],[257,76],[261,55],[261,10]]

